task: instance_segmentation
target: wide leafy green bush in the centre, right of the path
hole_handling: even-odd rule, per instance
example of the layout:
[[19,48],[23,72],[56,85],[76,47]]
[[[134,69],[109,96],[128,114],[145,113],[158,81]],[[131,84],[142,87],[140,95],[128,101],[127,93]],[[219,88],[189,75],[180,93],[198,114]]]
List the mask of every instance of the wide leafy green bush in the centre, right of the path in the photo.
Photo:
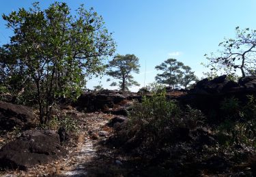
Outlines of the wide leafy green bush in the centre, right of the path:
[[195,129],[203,115],[189,106],[182,110],[165,91],[143,97],[129,112],[129,118],[117,137],[132,148],[156,150],[173,142],[186,140],[190,129]]

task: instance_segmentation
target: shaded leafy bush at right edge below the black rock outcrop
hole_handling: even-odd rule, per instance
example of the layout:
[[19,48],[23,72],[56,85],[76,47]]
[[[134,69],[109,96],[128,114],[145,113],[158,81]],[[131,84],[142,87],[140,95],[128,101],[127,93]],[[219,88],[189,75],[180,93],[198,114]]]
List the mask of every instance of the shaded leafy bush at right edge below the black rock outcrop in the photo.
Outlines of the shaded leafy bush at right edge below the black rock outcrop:
[[253,95],[247,97],[248,101],[244,106],[235,97],[221,103],[225,121],[216,127],[216,132],[218,141],[223,146],[256,146],[256,99]]

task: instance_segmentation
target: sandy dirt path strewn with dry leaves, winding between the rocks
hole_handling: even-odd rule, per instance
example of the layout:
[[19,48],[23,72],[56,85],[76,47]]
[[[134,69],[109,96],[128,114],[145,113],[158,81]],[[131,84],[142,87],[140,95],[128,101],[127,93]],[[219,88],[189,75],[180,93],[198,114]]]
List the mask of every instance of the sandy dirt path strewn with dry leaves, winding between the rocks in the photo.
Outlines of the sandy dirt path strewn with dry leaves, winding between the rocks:
[[99,142],[111,135],[112,129],[107,127],[106,123],[113,115],[98,112],[84,114],[76,110],[71,110],[68,114],[78,120],[79,135],[74,142],[66,146],[69,152],[66,158],[50,164],[36,165],[27,171],[5,171],[0,173],[0,176],[95,176],[99,166],[108,163],[104,157],[111,150],[103,152],[103,158],[102,154],[98,154],[98,150],[102,146]]

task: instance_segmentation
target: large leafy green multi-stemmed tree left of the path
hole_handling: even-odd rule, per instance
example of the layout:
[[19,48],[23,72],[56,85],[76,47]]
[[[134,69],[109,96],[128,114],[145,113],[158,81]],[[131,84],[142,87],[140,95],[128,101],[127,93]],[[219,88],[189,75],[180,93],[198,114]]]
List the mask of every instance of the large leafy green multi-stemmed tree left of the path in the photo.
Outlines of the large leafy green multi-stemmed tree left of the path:
[[55,2],[46,10],[33,3],[3,19],[14,32],[1,46],[3,59],[12,59],[8,65],[0,61],[3,76],[22,74],[20,80],[31,83],[26,90],[33,89],[41,123],[48,121],[59,97],[77,97],[85,78],[102,73],[102,62],[115,52],[102,16],[83,5],[72,16],[66,3]]

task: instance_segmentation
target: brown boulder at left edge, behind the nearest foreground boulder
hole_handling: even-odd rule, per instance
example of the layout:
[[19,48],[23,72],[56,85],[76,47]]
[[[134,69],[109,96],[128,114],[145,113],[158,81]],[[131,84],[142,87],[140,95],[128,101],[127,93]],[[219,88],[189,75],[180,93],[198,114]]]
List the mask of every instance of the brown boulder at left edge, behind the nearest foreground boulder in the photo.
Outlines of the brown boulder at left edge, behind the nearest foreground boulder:
[[35,114],[31,108],[0,101],[0,130],[10,130],[14,127],[29,129],[34,118]]

